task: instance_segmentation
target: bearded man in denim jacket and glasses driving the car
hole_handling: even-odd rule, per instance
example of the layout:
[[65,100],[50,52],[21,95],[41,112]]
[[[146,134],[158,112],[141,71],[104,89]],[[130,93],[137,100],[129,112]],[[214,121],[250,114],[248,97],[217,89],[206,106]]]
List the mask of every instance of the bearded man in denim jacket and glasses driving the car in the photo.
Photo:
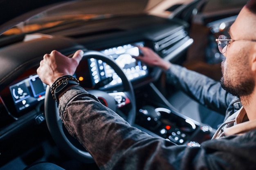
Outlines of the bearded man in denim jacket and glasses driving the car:
[[[226,57],[222,63],[221,84],[240,100],[223,90],[219,83],[166,62],[148,48],[141,48],[144,56],[139,56],[139,60],[162,68],[167,79],[199,102],[227,110],[228,122],[214,136],[218,139],[205,141],[200,147],[174,146],[131,127],[72,77],[65,76],[73,75],[83,51],[76,51],[72,58],[52,51],[44,55],[37,73],[43,82],[52,86],[67,130],[90,152],[100,169],[256,169],[255,6],[256,0],[251,0],[240,11],[229,30],[232,40],[223,40],[223,37],[217,40],[219,45],[229,42],[227,46],[220,46]],[[54,93],[61,79],[70,83],[61,85],[61,93]],[[241,107],[240,101],[243,107],[235,113]]]

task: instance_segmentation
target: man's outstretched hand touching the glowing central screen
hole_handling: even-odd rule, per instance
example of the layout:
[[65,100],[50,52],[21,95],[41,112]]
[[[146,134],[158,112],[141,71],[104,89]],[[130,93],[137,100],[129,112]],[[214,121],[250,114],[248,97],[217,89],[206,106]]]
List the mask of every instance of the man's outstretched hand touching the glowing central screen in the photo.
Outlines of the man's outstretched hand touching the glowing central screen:
[[164,61],[157,53],[151,50],[148,47],[139,47],[138,48],[143,52],[143,56],[135,57],[138,60],[141,60],[148,66],[158,66],[163,70],[168,70],[171,66],[171,63],[168,61]]

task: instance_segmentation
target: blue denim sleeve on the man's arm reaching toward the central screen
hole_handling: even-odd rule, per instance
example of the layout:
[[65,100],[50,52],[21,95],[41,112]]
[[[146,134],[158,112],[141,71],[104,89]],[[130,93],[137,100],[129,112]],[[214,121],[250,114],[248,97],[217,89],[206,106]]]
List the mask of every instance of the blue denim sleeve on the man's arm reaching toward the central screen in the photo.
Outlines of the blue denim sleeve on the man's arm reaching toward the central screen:
[[[238,97],[225,91],[220,86],[220,82],[200,73],[172,64],[166,71],[166,81],[180,88],[200,104],[218,113],[229,115],[236,111],[233,104],[239,102]],[[227,113],[227,109],[232,113]]]

